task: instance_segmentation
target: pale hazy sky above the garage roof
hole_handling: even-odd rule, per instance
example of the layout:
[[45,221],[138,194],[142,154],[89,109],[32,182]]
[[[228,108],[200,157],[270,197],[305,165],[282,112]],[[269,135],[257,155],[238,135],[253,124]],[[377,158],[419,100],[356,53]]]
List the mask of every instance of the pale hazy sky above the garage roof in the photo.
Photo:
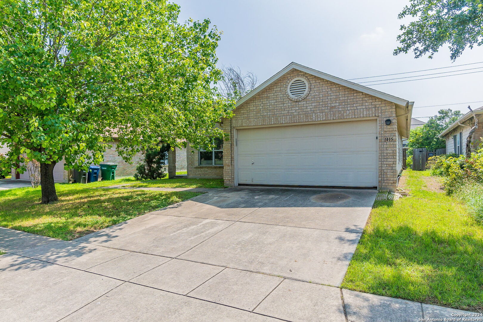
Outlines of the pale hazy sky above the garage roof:
[[[450,60],[446,48],[441,49],[433,59],[416,59],[411,53],[393,56],[392,52],[398,45],[396,36],[399,26],[403,23],[398,20],[398,13],[409,0],[174,2],[181,6],[182,20],[209,18],[213,25],[223,31],[217,50],[219,64],[239,66],[242,71],[254,72],[258,84],[292,61],[343,79],[483,62],[483,47],[467,49],[455,62]],[[482,63],[419,74],[476,67],[481,69],[455,73],[483,71]],[[370,87],[414,101],[412,117],[422,117],[434,115],[442,107],[417,108],[419,106],[483,101],[482,77],[483,72],[477,72]],[[477,108],[483,106],[483,102],[448,107],[466,113],[468,105]],[[427,118],[422,120],[426,121]]]

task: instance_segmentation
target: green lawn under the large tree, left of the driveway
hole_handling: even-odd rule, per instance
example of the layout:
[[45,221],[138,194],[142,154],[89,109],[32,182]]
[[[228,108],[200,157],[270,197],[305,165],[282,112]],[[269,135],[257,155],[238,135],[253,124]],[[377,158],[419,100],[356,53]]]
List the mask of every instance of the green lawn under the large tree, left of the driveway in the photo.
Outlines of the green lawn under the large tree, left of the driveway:
[[40,187],[0,191],[0,226],[33,234],[71,240],[118,224],[146,212],[198,196],[193,192],[160,192],[94,187],[136,182],[56,184],[59,201],[41,205]]

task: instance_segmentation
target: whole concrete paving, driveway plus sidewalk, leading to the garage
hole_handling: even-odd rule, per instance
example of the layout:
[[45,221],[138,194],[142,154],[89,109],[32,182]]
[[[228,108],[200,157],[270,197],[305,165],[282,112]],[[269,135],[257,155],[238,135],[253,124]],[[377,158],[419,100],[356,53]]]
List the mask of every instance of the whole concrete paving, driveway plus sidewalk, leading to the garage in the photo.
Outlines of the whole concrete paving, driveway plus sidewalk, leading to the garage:
[[401,322],[458,312],[338,288],[375,196],[234,187],[75,241],[15,247],[28,236],[0,230],[11,241],[0,256],[0,321]]

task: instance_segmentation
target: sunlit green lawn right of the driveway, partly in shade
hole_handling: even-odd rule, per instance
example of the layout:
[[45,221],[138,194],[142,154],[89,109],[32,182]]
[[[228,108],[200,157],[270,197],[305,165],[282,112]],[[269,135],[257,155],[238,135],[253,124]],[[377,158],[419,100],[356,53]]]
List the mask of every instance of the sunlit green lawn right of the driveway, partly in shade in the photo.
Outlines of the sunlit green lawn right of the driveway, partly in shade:
[[405,170],[410,196],[376,201],[342,288],[483,311],[483,227]]

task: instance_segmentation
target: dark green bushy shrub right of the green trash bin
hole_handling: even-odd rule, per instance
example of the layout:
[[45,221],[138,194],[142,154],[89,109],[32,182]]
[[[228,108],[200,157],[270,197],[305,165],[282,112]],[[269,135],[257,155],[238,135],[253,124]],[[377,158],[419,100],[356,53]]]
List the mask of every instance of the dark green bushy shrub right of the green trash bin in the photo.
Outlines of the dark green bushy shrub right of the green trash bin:
[[147,149],[143,162],[136,168],[134,179],[156,180],[166,177],[165,160],[168,158],[169,149],[169,144]]

